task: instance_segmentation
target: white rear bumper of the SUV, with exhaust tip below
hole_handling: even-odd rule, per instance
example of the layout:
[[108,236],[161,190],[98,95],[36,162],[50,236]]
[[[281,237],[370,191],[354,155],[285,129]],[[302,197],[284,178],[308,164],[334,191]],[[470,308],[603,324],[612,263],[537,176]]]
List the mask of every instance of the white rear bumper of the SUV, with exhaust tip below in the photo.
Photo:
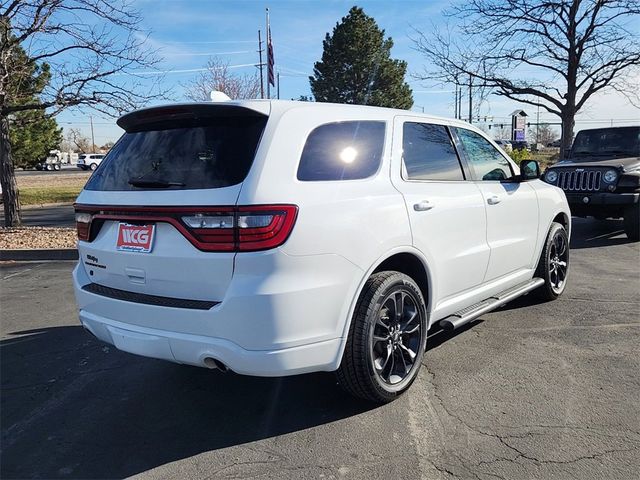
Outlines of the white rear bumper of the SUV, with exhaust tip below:
[[241,374],[285,376],[338,368],[362,275],[336,255],[238,255],[224,298],[209,309],[97,294],[83,289],[92,281],[81,264],[73,279],[80,321],[120,350],[196,366],[212,358]]

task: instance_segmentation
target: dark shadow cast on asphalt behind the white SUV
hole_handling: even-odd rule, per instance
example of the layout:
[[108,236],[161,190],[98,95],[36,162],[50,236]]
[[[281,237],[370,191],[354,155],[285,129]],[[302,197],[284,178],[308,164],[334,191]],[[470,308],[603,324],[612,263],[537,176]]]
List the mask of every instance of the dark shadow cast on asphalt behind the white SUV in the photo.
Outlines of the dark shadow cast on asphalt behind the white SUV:
[[255,378],[146,359],[80,326],[0,342],[2,478],[120,478],[372,404],[332,374]]

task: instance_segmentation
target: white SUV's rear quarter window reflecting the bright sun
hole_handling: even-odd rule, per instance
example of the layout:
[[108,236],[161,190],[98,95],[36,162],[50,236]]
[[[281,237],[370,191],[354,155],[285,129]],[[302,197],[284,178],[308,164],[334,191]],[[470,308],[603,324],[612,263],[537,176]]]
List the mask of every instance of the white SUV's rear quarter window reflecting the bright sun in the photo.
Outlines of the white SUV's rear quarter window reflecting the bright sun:
[[309,134],[298,180],[355,180],[378,171],[384,146],[384,122],[337,122]]

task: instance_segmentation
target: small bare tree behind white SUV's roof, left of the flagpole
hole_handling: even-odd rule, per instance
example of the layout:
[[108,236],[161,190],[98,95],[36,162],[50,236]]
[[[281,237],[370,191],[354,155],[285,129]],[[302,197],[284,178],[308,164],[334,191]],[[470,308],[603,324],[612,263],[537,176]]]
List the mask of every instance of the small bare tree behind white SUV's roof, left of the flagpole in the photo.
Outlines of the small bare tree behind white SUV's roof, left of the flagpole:
[[207,70],[185,85],[185,95],[188,99],[196,102],[208,101],[211,98],[212,90],[224,92],[234,100],[258,98],[260,80],[256,73],[253,75],[234,74],[229,62],[210,58],[207,62]]

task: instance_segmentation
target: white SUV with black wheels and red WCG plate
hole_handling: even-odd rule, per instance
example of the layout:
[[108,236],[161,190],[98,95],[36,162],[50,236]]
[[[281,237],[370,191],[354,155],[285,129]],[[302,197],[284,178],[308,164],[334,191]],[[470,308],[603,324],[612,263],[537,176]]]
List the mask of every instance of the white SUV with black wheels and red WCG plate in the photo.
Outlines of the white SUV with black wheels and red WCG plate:
[[386,402],[427,330],[565,288],[564,193],[464,122],[288,101],[139,110],[78,197],[82,324],[240,374],[336,371]]

